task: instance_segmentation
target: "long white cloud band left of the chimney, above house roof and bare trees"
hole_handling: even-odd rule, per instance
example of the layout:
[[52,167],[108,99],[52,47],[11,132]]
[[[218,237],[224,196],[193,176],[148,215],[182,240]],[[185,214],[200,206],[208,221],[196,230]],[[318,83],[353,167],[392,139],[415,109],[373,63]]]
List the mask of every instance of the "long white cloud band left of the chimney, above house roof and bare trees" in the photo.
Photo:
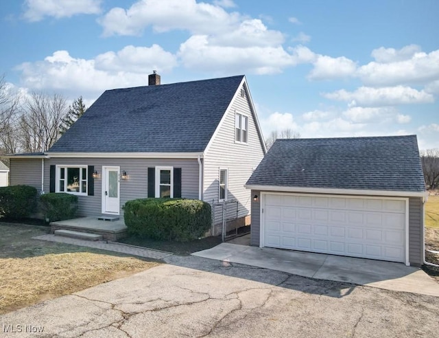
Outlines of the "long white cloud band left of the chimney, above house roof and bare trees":
[[54,90],[75,95],[97,95],[111,88],[147,84],[153,69],[166,71],[175,58],[161,47],[127,46],[119,52],[107,52],[93,59],[73,58],[67,51],[57,51],[36,63],[23,63],[23,85],[31,90]]

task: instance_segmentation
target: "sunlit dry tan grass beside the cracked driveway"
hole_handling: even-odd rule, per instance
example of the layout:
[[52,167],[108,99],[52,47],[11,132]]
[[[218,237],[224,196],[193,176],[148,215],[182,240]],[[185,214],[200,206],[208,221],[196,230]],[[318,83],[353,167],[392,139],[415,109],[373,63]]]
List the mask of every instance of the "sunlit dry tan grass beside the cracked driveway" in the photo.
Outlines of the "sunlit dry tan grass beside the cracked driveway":
[[0,313],[67,295],[157,263],[89,252],[0,259]]

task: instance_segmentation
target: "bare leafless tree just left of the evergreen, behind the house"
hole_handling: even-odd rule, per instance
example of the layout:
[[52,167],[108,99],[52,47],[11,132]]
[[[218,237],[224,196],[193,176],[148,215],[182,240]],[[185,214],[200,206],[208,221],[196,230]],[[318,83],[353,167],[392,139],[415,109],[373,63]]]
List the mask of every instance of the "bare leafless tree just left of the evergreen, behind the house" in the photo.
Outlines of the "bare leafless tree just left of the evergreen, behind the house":
[[19,121],[21,148],[25,152],[48,150],[60,137],[60,126],[67,115],[62,95],[32,93]]

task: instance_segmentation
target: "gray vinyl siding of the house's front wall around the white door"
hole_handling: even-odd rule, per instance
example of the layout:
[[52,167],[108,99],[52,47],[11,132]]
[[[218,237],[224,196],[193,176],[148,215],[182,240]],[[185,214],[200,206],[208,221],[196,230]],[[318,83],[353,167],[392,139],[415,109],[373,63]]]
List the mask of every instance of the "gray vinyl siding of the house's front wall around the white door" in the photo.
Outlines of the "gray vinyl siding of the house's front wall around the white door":
[[[49,167],[51,165],[95,166],[99,178],[95,179],[94,196],[78,196],[79,216],[102,214],[102,166],[119,166],[125,170],[128,179],[120,181],[120,214],[122,205],[131,199],[147,197],[147,168],[155,166],[174,166],[182,168],[182,197],[198,199],[198,161],[196,159],[62,159],[45,160],[45,192],[49,192]],[[41,170],[40,170],[41,171]]]

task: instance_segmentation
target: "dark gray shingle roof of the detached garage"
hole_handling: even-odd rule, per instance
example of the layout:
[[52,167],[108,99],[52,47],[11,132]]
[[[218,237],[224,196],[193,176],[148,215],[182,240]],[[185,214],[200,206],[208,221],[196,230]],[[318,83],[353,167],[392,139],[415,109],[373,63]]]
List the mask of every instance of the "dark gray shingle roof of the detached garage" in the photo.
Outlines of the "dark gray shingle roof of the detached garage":
[[425,191],[416,135],[278,139],[247,185]]

